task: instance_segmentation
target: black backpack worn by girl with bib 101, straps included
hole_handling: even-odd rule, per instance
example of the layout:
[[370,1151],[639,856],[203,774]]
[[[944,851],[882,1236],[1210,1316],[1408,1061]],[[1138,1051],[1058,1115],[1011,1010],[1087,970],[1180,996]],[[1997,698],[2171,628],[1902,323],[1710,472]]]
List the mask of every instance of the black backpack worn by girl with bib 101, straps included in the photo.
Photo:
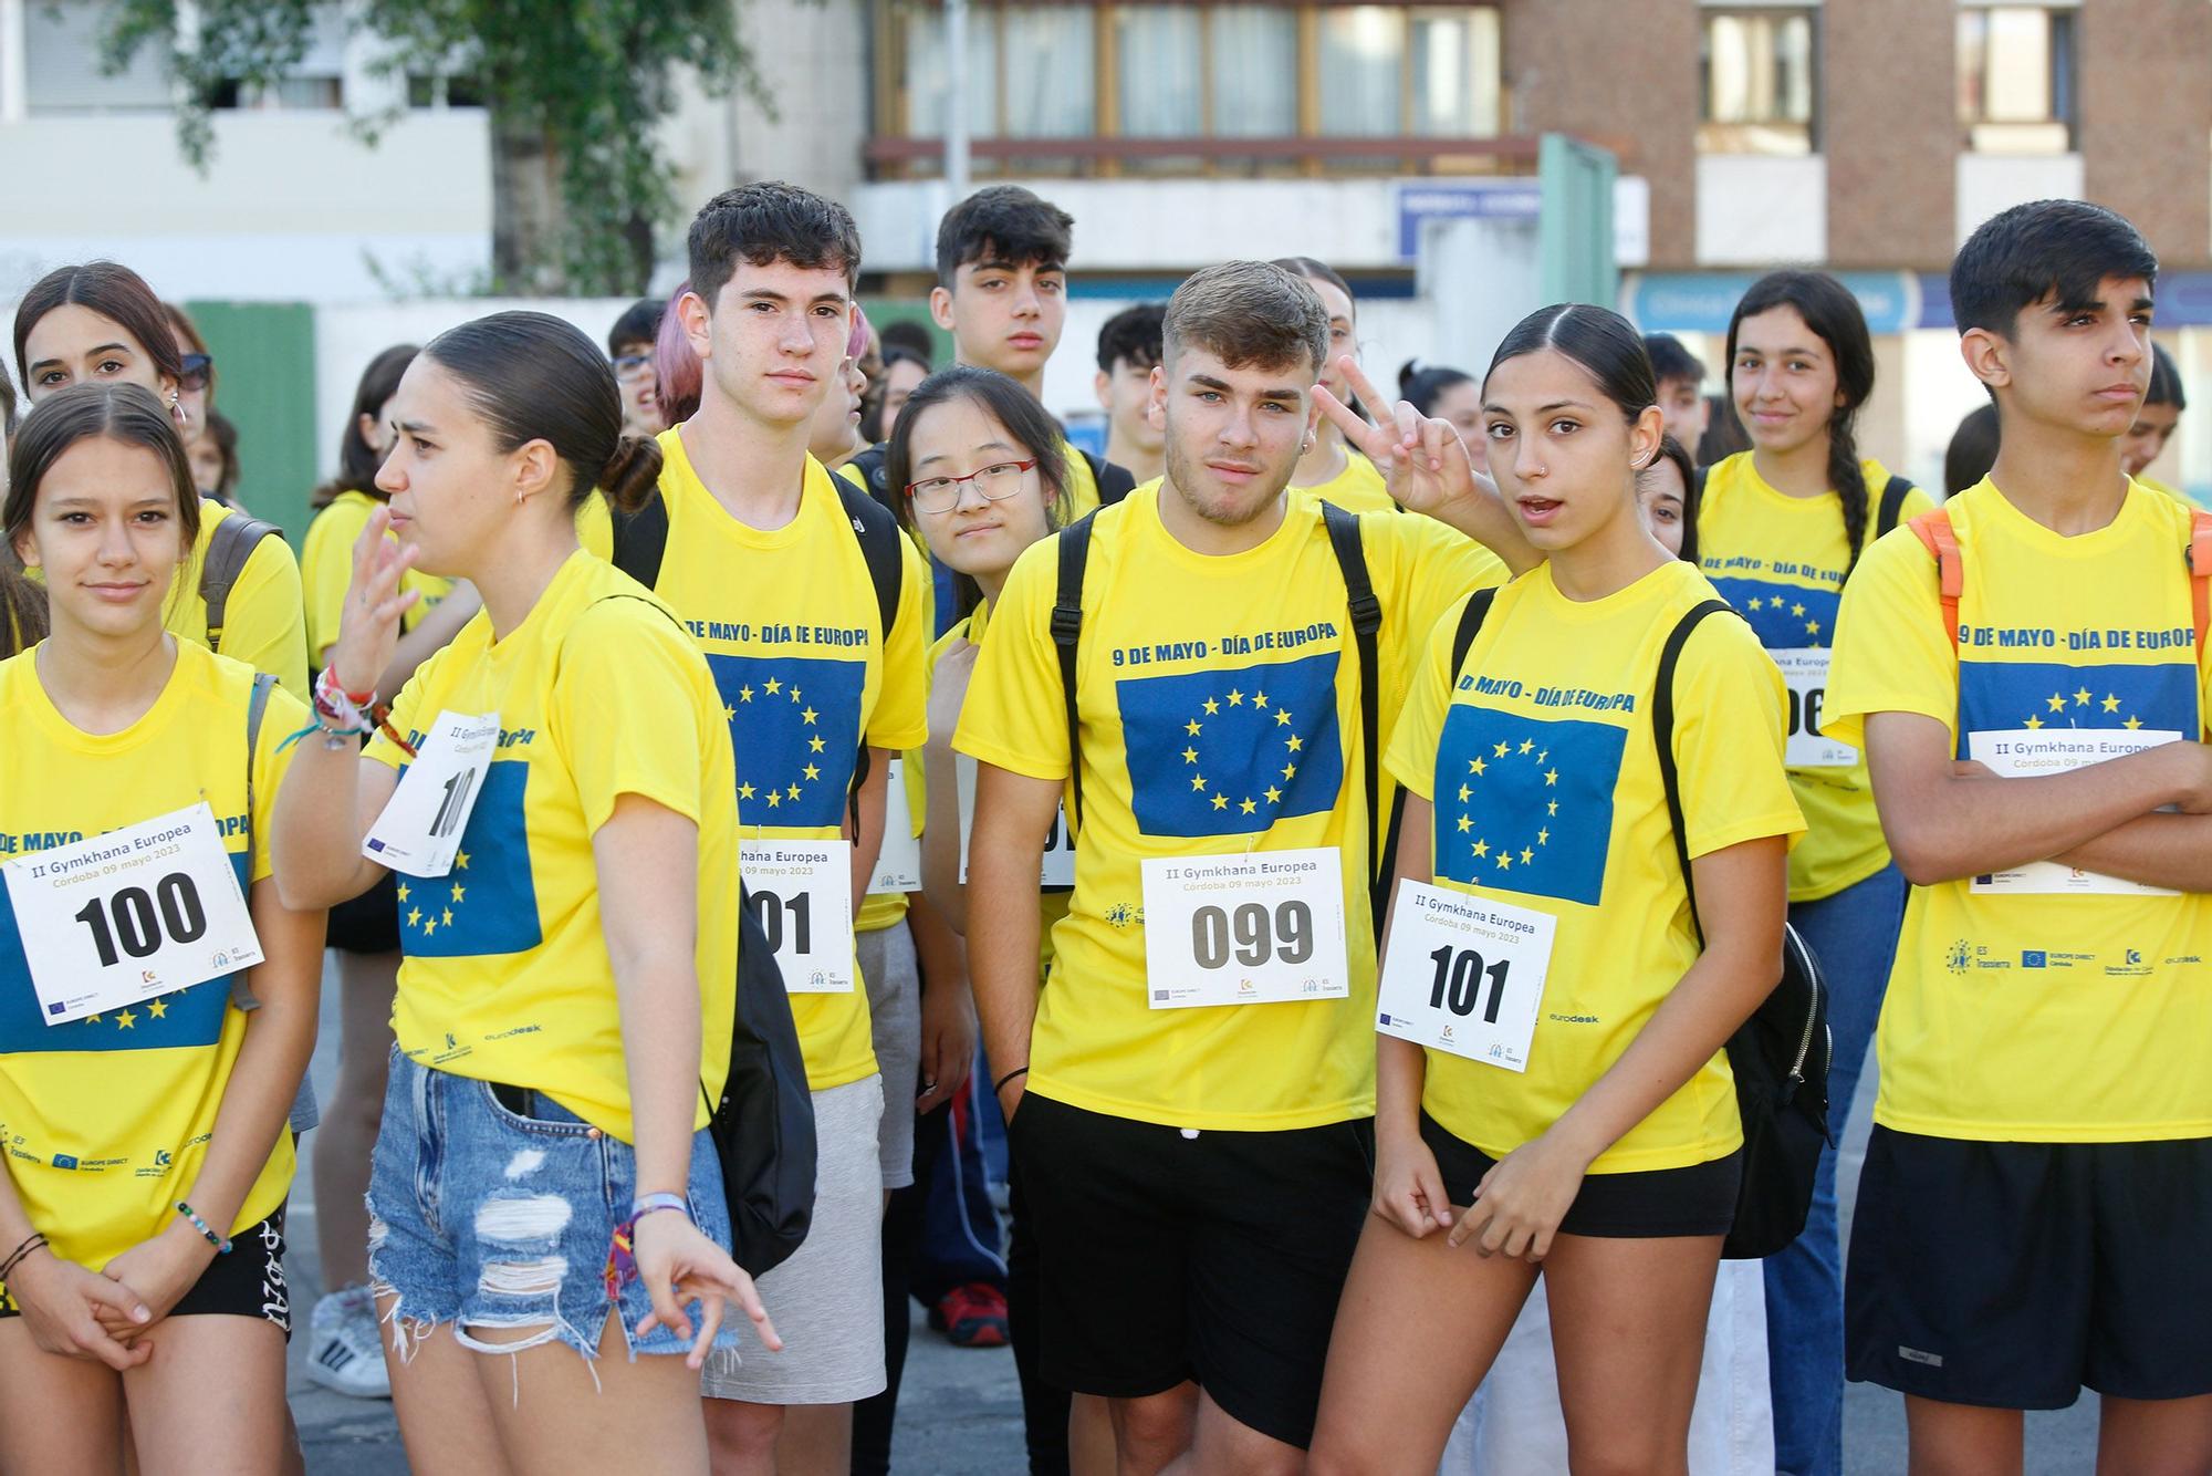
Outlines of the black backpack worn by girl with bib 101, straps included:
[[[1887,500],[1887,498],[1885,498]],[[1478,591],[1460,615],[1451,642],[1451,671],[1467,664],[1475,633],[1498,591]],[[1652,744],[1659,750],[1659,783],[1666,790],[1668,823],[1674,830],[1674,863],[1690,898],[1690,927],[1705,947],[1705,925],[1697,916],[1697,879],[1683,839],[1681,775],[1674,770],[1674,668],[1690,633],[1708,615],[1734,615],[1725,600],[1705,600],[1674,624],[1659,651],[1652,682]],[[1739,615],[1741,620],[1741,615]],[[1721,1255],[1756,1261],[1776,1255],[1805,1230],[1812,1184],[1820,1168],[1827,1133],[1827,1071],[1834,1042],[1827,1033],[1827,978],[1796,927],[1783,925],[1783,974],[1767,998],[1728,1038],[1728,1069],[1736,1078],[1736,1113],[1743,1118],[1743,1182],[1736,1188],[1736,1219]]]

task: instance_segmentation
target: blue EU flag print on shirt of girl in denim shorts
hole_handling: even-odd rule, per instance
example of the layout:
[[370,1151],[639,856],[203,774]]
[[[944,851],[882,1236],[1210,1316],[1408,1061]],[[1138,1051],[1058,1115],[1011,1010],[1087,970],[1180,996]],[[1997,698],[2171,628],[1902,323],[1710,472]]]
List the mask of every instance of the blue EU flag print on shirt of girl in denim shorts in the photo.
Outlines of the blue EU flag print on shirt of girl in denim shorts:
[[469,810],[445,876],[400,876],[400,949],[409,958],[522,954],[544,943],[524,828],[531,766],[498,759]]

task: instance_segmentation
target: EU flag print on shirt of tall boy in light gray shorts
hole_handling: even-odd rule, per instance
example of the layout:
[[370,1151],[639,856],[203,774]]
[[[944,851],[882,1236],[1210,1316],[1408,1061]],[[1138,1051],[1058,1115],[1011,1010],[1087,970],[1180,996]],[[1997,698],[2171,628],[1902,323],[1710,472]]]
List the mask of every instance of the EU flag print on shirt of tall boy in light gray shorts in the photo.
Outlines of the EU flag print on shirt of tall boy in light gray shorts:
[[710,651],[706,664],[737,748],[737,823],[843,823],[867,662]]

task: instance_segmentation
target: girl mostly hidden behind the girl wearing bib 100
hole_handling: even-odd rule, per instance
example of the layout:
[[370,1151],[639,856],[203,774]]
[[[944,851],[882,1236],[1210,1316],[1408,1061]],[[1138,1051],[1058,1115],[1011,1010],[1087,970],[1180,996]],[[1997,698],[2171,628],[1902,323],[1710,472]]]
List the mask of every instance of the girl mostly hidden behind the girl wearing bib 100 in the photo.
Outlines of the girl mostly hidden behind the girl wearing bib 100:
[[[201,365],[204,367],[204,365]],[[144,385],[188,429],[188,370],[168,312],[153,288],[126,266],[88,261],[40,277],[15,308],[15,372],[24,394],[42,398],[75,383]],[[201,392],[206,378],[199,381]],[[217,524],[232,511],[204,500],[199,542],[177,578],[168,631],[208,644],[208,602],[199,569]],[[226,604],[221,653],[270,673],[285,690],[307,693],[307,637],[301,620],[299,564],[283,538],[263,538],[239,571]]]

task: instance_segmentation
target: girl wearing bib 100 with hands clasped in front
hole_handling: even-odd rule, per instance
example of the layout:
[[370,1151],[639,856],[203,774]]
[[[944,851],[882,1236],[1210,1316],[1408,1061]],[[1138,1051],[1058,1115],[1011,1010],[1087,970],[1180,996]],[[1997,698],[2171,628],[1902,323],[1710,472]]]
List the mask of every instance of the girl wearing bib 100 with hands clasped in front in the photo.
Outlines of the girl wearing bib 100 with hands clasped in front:
[[[150,389],[44,394],[15,436],[0,522],[40,571],[51,635],[0,664],[0,1469],[272,1472],[285,1421],[285,1109],[314,1049],[323,914],[270,881],[296,697],[164,628],[190,578],[199,493]],[[252,741],[248,735],[252,732]],[[91,872],[44,885],[35,852],[197,810],[215,876],[161,874],[161,912]],[[186,841],[175,843],[181,848]],[[230,872],[226,876],[223,872]],[[250,938],[210,905],[243,885]],[[148,885],[153,879],[148,879]],[[69,918],[77,905],[86,909]],[[86,921],[86,914],[91,918]],[[71,952],[27,945],[60,921]],[[51,1022],[40,983],[97,967],[102,925],[263,963]],[[210,929],[223,929],[208,936]],[[113,945],[111,945],[113,952]],[[80,958],[82,954],[82,958]],[[190,967],[190,965],[188,965]],[[252,1007],[250,1014],[246,1007]],[[221,1396],[210,1399],[210,1370]]]

